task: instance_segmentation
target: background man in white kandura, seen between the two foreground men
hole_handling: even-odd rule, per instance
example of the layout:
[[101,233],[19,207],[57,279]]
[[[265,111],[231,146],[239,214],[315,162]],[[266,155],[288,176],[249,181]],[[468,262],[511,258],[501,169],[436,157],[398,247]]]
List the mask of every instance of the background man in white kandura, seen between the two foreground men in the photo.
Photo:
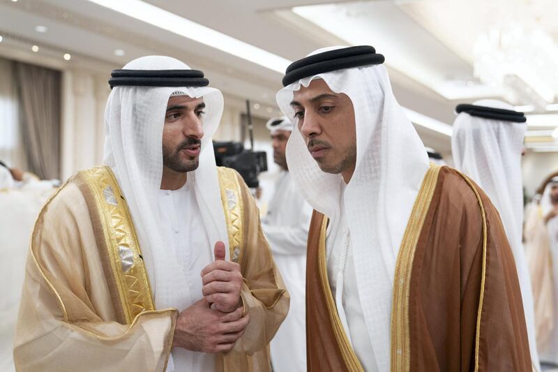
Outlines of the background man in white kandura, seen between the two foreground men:
[[271,132],[273,161],[281,173],[262,228],[291,295],[287,318],[271,341],[271,364],[275,372],[306,371],[306,239],[312,208],[287,168],[285,149],[292,123],[287,117],[278,117],[266,126]]

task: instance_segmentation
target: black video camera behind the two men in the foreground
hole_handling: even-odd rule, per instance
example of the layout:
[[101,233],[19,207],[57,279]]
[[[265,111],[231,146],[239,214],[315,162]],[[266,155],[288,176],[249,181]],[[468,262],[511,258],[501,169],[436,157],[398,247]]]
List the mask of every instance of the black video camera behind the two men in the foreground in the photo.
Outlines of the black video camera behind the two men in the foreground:
[[257,175],[267,170],[267,155],[265,151],[244,149],[241,142],[213,141],[215,162],[218,167],[227,167],[239,172],[248,187],[257,188]]

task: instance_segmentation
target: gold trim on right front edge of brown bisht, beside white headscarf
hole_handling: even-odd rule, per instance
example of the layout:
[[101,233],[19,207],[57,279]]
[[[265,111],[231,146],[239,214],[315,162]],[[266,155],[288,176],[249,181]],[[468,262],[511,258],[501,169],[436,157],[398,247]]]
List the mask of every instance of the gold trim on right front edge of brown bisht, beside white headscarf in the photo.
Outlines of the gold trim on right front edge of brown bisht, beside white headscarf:
[[393,302],[391,309],[391,371],[410,371],[411,338],[409,334],[409,292],[414,253],[418,237],[421,235],[424,220],[436,188],[439,165],[430,164],[421,189],[414,202],[405,235],[401,241],[395,278],[393,280]]

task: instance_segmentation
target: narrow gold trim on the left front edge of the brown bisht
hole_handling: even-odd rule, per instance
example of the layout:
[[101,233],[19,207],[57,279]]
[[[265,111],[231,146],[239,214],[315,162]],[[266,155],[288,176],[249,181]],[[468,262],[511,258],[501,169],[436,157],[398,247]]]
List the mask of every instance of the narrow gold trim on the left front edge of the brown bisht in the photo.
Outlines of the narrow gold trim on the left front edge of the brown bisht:
[[349,338],[345,334],[345,329],[337,313],[337,307],[335,306],[335,301],[333,300],[333,294],[331,293],[331,288],[329,287],[329,279],[327,277],[327,260],[326,260],[326,230],[327,230],[328,218],[324,216],[324,221],[322,222],[322,228],[319,232],[319,246],[318,246],[318,270],[320,281],[322,282],[322,290],[326,295],[326,305],[329,313],[329,320],[331,322],[331,327],[333,328],[333,334],[335,334],[335,340],[337,341],[339,348],[341,350],[341,355],[343,356],[343,361],[345,366],[350,372],[364,372],[361,366],[359,358],[356,357]]

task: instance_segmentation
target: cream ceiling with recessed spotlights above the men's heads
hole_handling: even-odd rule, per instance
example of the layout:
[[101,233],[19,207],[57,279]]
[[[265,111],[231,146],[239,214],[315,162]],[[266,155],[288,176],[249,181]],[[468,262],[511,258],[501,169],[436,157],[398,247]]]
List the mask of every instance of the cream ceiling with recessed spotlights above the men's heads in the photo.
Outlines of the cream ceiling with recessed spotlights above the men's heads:
[[[498,1],[502,0],[494,3]],[[539,2],[550,5],[550,1],[554,0]],[[488,1],[481,0],[146,2],[289,61],[329,45],[373,45],[386,56],[400,104],[448,124],[458,102],[448,98],[457,94],[467,97],[460,101],[471,102],[474,89],[478,95],[480,84],[473,77],[469,49],[474,33],[495,14],[494,8],[483,5]],[[505,8],[502,3],[496,6]],[[556,39],[557,10],[540,6],[529,10],[529,17]],[[46,26],[47,32],[35,31],[37,25]],[[281,73],[87,0],[0,0],[0,35],[4,37],[0,54],[5,56],[41,59],[56,68],[86,66],[107,77],[112,68],[142,55],[176,57],[204,70],[211,85],[237,104],[245,98],[260,103],[262,112],[255,114],[264,117],[269,115],[266,107],[276,109],[274,97],[281,87]],[[33,44],[40,46],[36,54],[30,50]],[[116,56],[116,49],[126,54]],[[61,59],[65,52],[72,54],[70,61]],[[425,144],[448,153],[448,136],[425,128],[418,131]]]

